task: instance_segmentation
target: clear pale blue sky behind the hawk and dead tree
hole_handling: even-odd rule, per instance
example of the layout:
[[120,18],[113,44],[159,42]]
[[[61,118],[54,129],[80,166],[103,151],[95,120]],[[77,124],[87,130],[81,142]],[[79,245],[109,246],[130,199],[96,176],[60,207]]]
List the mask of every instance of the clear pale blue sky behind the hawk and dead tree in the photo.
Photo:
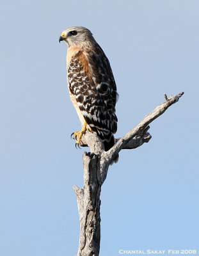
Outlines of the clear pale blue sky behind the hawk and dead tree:
[[83,186],[80,127],[67,90],[68,26],[89,28],[106,52],[120,98],[118,132],[164,93],[185,92],[150,125],[152,140],[123,150],[101,195],[100,255],[196,249],[199,2],[1,0],[0,255],[75,255]]

